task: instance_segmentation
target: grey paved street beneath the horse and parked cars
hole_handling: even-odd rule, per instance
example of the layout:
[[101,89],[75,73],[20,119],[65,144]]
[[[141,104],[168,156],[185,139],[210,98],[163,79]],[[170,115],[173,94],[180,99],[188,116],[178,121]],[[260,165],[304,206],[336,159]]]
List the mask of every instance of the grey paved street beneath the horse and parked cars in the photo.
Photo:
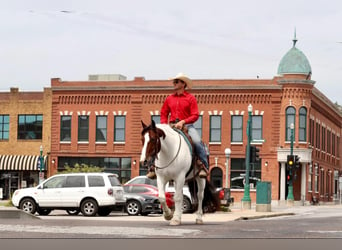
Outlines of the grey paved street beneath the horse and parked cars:
[[39,219],[1,219],[0,238],[342,239],[341,205],[281,210],[282,216],[241,217],[239,220],[233,218],[238,210],[217,212],[205,215],[204,225],[194,223],[195,214],[184,214],[182,225],[177,227],[169,226],[161,215],[128,216],[113,212],[105,217],[84,217],[53,211],[49,216],[38,216]]

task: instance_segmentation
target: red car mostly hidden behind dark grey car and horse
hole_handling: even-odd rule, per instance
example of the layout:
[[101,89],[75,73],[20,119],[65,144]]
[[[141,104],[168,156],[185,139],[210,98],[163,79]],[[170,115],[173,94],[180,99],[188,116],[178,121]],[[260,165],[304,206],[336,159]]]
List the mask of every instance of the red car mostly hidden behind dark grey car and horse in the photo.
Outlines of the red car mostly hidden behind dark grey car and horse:
[[[125,193],[145,194],[158,198],[158,188],[147,184],[124,184]],[[165,192],[166,204],[169,208],[173,208],[175,203],[173,201],[173,194]]]

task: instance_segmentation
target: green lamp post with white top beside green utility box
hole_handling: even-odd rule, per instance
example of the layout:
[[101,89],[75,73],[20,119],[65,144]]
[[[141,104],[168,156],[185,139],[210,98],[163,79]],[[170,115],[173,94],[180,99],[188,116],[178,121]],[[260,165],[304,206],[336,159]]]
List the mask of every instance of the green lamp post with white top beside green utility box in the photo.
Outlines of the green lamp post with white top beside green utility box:
[[250,164],[250,144],[251,144],[251,128],[252,128],[252,104],[248,105],[248,121],[247,121],[247,146],[246,146],[246,174],[244,194],[241,200],[242,209],[251,209],[251,197],[249,194],[249,164]]

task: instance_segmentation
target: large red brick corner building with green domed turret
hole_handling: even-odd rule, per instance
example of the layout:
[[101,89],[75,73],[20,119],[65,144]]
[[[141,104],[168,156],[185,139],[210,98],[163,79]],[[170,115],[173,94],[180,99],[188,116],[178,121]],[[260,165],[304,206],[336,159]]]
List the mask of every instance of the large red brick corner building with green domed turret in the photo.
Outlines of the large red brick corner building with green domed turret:
[[[214,185],[224,186],[228,178],[235,200],[243,197],[247,107],[251,104],[252,145],[260,149],[261,158],[251,166],[252,202],[259,180],[271,182],[272,200],[287,198],[291,123],[293,153],[300,157],[294,172],[295,200],[338,198],[341,113],[314,87],[310,63],[297,49],[296,39],[273,79],[194,79],[193,83],[190,92],[200,110],[195,125],[210,151]],[[51,158],[55,162],[51,172],[87,163],[116,172],[123,182],[146,173],[138,163],[140,121],[158,122],[162,103],[172,93],[170,81],[99,75],[88,81],[52,79],[51,88]],[[226,148],[231,149],[228,176]]]

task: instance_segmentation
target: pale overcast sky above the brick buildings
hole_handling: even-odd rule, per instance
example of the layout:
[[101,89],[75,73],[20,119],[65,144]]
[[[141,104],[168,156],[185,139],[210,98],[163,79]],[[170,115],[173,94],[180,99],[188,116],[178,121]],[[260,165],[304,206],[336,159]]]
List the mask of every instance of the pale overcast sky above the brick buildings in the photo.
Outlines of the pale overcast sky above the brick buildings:
[[315,86],[342,104],[340,0],[2,0],[0,91],[51,78],[271,79],[296,29]]

